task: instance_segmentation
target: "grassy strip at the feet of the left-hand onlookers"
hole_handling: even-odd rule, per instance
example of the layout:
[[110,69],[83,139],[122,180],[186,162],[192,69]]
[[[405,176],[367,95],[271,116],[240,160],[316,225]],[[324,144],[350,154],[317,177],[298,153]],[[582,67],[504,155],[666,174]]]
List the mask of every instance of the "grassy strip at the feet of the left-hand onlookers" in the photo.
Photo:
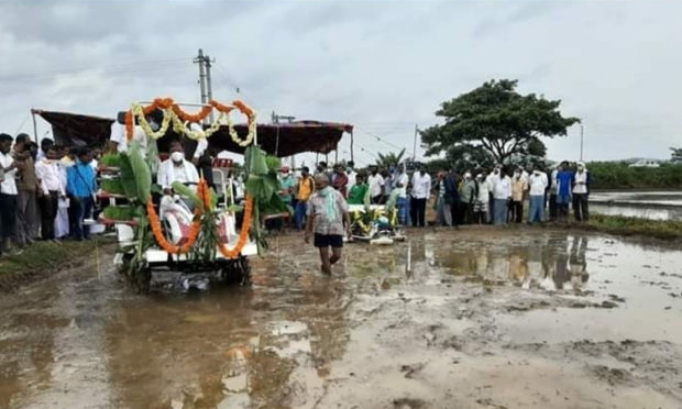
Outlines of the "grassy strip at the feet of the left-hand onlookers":
[[35,242],[21,254],[4,255],[0,259],[0,277],[56,273],[75,259],[89,256],[94,251],[94,241]]

